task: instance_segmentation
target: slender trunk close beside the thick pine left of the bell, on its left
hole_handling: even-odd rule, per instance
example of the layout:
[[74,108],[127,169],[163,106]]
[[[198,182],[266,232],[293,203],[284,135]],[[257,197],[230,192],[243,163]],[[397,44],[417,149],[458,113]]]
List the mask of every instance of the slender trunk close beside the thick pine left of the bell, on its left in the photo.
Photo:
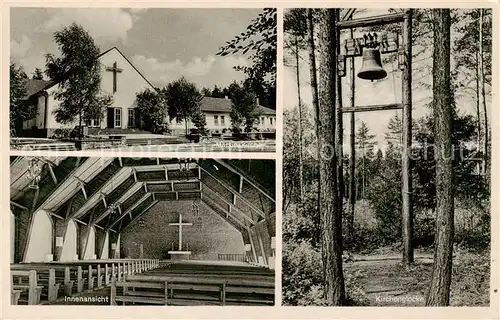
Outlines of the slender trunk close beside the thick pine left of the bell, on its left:
[[[309,73],[311,77],[311,91],[312,91],[312,104],[314,108],[314,118],[316,124],[316,142],[317,142],[317,157],[320,161],[320,146],[319,146],[319,131],[321,126],[321,119],[319,118],[319,95],[318,95],[318,77],[316,70],[316,44],[314,42],[314,19],[313,19],[313,9],[307,9],[307,20],[308,20],[308,40],[309,40]],[[318,210],[321,207],[321,183],[318,183]],[[321,223],[321,215],[317,215],[318,220],[317,225]],[[317,228],[320,230],[320,228]],[[316,241],[320,241],[320,233],[316,235]]]

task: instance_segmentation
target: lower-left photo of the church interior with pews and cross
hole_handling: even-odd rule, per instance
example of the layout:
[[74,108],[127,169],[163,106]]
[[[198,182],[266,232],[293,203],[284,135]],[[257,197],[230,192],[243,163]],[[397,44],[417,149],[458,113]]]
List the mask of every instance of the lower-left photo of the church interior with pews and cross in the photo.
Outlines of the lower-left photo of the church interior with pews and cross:
[[10,158],[12,305],[274,305],[275,161]]

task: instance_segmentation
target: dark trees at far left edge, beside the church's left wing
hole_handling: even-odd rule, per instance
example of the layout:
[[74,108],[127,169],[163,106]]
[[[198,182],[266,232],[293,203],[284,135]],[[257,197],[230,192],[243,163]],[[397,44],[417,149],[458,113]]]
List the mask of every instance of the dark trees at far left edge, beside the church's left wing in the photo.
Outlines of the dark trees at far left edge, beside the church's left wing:
[[23,129],[23,122],[36,116],[36,104],[30,103],[26,97],[26,78],[22,67],[10,64],[10,130],[17,136]]

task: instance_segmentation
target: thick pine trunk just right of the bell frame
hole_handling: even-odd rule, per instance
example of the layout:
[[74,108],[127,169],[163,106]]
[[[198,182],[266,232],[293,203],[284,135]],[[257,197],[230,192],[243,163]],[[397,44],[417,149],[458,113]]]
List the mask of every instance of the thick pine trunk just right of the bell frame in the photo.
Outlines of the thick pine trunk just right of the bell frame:
[[450,9],[434,9],[433,96],[436,126],[436,240],[427,306],[448,306],[453,256],[452,92]]

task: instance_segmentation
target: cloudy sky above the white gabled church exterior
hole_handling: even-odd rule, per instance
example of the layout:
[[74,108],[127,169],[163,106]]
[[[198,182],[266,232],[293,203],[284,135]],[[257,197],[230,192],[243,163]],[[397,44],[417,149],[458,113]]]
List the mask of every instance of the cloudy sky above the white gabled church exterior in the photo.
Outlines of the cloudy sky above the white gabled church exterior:
[[185,76],[202,87],[244,79],[235,65],[247,56],[216,56],[219,47],[245,31],[260,9],[12,8],[11,61],[31,75],[44,55],[59,55],[55,31],[76,22],[101,51],[116,46],[154,85]]

